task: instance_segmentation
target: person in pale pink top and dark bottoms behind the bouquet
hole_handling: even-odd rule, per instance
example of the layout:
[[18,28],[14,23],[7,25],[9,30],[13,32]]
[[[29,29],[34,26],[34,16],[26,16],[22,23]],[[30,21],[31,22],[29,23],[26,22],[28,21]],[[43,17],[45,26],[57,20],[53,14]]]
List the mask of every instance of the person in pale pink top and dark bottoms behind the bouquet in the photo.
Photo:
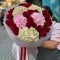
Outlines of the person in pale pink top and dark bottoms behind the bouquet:
[[[53,16],[52,10],[48,6],[43,6],[50,16]],[[53,19],[53,18],[52,18]],[[57,21],[53,20],[52,22]],[[55,23],[56,28],[51,33],[51,37],[38,47],[37,60],[60,60],[60,23]]]

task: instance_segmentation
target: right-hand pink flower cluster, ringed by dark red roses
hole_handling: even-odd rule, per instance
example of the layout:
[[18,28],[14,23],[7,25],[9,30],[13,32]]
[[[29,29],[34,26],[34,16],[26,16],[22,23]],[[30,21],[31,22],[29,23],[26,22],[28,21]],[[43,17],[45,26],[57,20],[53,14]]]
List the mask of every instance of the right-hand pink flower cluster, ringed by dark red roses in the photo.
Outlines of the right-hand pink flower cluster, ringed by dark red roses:
[[42,27],[44,26],[45,23],[45,18],[42,14],[39,14],[37,12],[33,12],[31,14],[31,17],[33,18],[34,22],[36,23],[36,25],[41,25]]

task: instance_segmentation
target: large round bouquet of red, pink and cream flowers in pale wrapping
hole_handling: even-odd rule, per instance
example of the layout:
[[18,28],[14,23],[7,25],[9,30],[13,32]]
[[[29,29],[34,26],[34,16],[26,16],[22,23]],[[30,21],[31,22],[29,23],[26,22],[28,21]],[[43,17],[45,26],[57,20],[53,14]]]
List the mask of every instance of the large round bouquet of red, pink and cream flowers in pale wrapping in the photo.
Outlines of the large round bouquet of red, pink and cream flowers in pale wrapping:
[[40,46],[52,31],[47,10],[30,3],[20,3],[8,9],[4,25],[10,38],[21,49],[24,47],[25,53],[26,47]]

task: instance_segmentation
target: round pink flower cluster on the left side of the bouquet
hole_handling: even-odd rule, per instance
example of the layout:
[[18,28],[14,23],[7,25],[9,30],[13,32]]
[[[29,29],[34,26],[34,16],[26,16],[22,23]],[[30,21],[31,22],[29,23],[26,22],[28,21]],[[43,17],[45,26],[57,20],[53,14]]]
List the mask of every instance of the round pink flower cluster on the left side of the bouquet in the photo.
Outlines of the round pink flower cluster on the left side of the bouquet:
[[13,21],[18,28],[22,28],[26,25],[27,18],[24,17],[23,15],[17,14],[13,17]]

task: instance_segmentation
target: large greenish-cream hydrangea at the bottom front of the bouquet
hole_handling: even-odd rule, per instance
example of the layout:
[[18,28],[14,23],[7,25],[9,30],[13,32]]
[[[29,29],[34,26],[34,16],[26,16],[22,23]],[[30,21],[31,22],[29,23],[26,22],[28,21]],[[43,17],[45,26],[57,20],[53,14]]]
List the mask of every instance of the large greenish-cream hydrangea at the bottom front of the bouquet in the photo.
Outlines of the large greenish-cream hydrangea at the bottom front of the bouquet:
[[33,42],[39,39],[39,32],[33,27],[23,27],[22,29],[19,29],[18,37],[20,37],[24,41]]

